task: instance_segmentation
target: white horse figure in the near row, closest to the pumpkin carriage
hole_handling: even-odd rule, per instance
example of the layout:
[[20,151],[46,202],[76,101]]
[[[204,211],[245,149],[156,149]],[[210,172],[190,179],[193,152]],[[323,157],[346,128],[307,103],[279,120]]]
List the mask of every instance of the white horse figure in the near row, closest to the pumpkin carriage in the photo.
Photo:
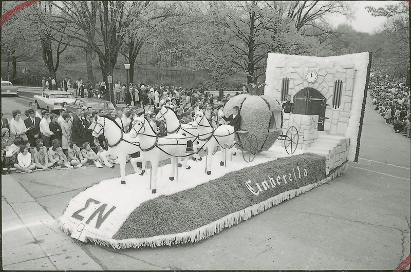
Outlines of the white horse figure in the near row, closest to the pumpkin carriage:
[[[204,117],[204,113],[199,110],[194,116],[193,126],[198,128],[198,141],[196,146],[198,149],[207,147],[207,174],[211,174],[211,159],[213,158],[213,151],[216,146],[221,147],[221,162],[220,165],[224,165],[224,158],[227,156],[227,150],[234,146],[234,127],[230,125],[221,125],[215,130],[211,127],[207,118]],[[235,152],[233,153],[235,155]]]

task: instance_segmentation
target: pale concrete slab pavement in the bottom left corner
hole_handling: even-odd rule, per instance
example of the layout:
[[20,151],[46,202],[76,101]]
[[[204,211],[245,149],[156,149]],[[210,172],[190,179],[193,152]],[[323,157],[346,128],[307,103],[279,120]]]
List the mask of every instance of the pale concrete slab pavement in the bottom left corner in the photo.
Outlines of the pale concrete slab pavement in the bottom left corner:
[[10,174],[2,175],[2,238],[4,270],[102,270]]

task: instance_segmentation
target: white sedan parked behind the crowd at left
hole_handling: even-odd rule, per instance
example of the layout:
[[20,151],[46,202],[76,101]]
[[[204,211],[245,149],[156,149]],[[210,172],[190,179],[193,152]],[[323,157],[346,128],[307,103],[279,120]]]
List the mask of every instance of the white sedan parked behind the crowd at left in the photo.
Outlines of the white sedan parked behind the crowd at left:
[[44,91],[42,95],[34,95],[33,100],[38,109],[47,109],[50,113],[61,109],[63,102],[69,105],[76,101],[73,95],[65,91]]

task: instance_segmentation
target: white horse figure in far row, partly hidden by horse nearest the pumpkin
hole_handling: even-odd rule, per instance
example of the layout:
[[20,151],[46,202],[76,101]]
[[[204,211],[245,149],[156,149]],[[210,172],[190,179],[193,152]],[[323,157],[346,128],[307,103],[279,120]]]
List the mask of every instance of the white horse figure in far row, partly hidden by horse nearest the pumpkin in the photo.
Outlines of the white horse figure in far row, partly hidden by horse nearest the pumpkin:
[[[198,139],[197,127],[194,127],[191,124],[181,124],[176,112],[168,106],[163,106],[156,117],[158,121],[165,121],[167,134],[178,133],[184,135],[184,138],[187,139],[187,141],[192,141],[194,152],[193,160],[198,159],[201,161],[201,157],[197,153],[197,147],[194,145],[195,141]],[[181,167],[181,165],[178,164],[178,167]]]

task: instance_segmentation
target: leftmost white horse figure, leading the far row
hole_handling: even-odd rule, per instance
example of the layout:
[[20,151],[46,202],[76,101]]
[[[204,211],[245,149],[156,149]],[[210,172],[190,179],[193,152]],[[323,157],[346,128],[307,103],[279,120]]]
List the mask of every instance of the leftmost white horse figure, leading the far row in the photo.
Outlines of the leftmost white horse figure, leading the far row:
[[[117,162],[120,164],[121,184],[125,184],[126,157],[129,154],[141,151],[138,139],[130,137],[128,133],[123,133],[120,126],[113,119],[100,117],[99,115],[96,115],[95,122],[89,128],[93,130],[93,137],[104,134],[108,143],[106,155],[117,157]],[[104,164],[114,168],[114,165],[108,162],[107,157],[102,156]],[[134,170],[138,172],[137,168],[134,168]],[[140,169],[140,175],[142,174],[144,174],[144,171]]]

